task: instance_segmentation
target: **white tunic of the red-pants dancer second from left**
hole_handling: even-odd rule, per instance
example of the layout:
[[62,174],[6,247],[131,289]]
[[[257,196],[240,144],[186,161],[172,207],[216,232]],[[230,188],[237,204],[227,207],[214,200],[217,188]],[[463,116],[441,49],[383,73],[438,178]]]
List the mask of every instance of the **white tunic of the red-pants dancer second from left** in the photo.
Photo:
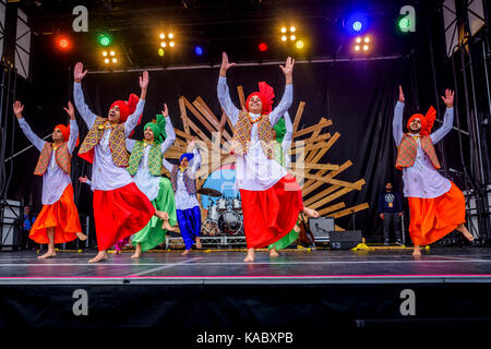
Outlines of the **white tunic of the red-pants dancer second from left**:
[[[82,84],[74,83],[73,99],[81,117],[84,119],[88,129],[92,129],[97,118],[84,101]],[[145,100],[140,99],[136,110],[128,117],[124,122],[124,135],[128,137],[136,127],[140,115],[145,107]],[[133,178],[124,167],[116,166],[112,161],[111,149],[109,147],[109,136],[111,129],[106,129],[99,143],[94,147],[94,163],[92,165],[92,190],[109,191],[122,188],[133,182]]]

